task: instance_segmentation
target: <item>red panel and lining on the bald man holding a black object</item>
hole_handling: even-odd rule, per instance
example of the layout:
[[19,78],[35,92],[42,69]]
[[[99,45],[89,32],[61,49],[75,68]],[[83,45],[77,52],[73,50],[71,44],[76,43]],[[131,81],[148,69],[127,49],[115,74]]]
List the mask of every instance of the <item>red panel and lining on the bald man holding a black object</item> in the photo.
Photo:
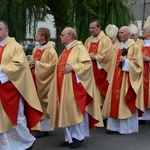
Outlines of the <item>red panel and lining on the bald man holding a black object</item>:
[[[113,83],[112,83],[110,117],[113,117],[113,118],[118,118],[119,102],[120,102],[119,100],[120,100],[122,79],[124,75],[124,71],[122,71],[122,69],[118,66],[120,63],[121,53],[122,53],[122,50],[120,49],[117,54],[117,60],[116,60]],[[128,108],[133,113],[135,113],[135,110],[136,110],[135,100],[136,100],[136,94],[131,86],[129,73],[128,73],[128,91],[127,91],[127,94],[125,95],[125,101],[126,101]]]

